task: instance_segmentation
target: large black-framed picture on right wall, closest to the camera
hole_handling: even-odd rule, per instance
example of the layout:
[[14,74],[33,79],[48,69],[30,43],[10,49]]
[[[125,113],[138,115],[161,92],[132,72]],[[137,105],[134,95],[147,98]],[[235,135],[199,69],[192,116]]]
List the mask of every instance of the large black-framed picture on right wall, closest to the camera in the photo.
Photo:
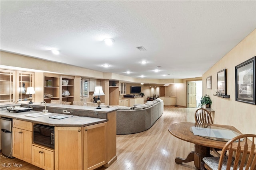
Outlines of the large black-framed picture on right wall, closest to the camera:
[[236,74],[236,101],[248,104],[255,102],[255,57],[237,65]]

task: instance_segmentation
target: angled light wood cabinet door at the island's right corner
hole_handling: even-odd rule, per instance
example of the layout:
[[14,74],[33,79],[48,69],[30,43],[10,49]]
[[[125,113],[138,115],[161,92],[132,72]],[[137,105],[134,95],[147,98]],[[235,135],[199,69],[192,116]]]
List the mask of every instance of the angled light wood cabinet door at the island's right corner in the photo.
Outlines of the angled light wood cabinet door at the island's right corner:
[[84,170],[106,164],[106,123],[84,127],[83,132]]

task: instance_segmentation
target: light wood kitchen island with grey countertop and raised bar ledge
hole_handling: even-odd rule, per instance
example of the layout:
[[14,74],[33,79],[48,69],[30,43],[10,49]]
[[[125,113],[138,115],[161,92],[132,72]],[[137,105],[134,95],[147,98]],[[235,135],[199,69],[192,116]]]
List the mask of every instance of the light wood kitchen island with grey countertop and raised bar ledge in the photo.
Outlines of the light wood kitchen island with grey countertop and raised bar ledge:
[[[2,110],[0,113],[1,117],[13,119],[13,155],[16,158],[43,169],[56,170],[108,167],[116,160],[116,109],[46,104],[51,115],[64,115],[63,110],[67,110],[67,118],[51,119],[51,115],[25,116],[42,112],[44,104],[21,104],[20,107],[33,107],[33,110],[20,113]],[[36,124],[54,126],[54,149],[33,142]]]

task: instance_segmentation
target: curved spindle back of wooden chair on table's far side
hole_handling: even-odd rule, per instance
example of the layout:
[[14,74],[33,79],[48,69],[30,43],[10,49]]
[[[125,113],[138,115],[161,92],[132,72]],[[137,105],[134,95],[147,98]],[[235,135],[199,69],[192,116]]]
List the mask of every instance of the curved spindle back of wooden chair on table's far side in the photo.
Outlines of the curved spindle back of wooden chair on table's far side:
[[196,123],[213,123],[211,113],[204,108],[196,110],[195,121]]

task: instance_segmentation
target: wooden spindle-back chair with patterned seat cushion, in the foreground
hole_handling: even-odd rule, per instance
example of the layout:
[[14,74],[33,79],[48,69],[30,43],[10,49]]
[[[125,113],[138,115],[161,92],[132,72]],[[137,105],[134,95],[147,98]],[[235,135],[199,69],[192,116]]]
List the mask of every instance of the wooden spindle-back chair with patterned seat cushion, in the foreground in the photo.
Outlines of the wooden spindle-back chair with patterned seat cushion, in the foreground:
[[230,139],[224,145],[220,157],[203,158],[204,167],[207,170],[256,170],[255,139],[254,134],[239,135]]

